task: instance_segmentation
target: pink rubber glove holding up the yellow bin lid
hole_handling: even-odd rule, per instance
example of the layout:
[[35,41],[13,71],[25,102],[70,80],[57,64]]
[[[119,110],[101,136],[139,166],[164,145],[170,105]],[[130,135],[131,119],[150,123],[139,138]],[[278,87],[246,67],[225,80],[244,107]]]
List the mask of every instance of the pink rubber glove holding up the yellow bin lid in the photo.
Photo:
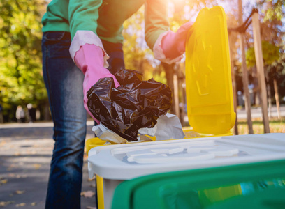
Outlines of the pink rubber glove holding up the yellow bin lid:
[[180,26],[176,33],[169,31],[166,36],[163,36],[161,40],[161,48],[166,58],[172,60],[185,52],[187,33],[192,25],[193,22],[187,22]]

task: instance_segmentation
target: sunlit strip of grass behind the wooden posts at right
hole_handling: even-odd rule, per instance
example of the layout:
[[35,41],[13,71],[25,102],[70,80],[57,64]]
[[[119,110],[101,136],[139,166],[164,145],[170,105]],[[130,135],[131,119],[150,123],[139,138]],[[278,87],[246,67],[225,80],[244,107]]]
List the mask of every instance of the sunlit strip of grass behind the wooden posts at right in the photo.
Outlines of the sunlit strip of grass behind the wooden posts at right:
[[[254,134],[264,134],[263,121],[261,119],[254,119],[252,121]],[[285,133],[285,117],[283,118],[272,118],[269,122],[270,133]],[[233,132],[233,130],[232,130]],[[247,126],[247,120],[238,121],[238,134],[248,134],[249,129]]]

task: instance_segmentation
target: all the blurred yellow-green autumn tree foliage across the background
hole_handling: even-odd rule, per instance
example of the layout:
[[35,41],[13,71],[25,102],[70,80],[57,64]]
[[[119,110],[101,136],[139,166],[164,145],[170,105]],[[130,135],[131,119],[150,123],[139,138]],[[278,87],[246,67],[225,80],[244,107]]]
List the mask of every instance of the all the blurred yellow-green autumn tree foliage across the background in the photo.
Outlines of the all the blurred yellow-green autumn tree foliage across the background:
[[[261,0],[244,4],[244,17],[257,6],[261,15],[261,38],[263,58],[270,72],[284,72],[284,13],[285,0]],[[238,0],[170,0],[168,18],[170,29],[177,29],[185,22],[196,20],[198,12],[204,8],[226,5],[228,27],[238,26]],[[16,105],[47,102],[47,93],[41,71],[41,17],[45,12],[45,0],[1,0],[0,1],[0,104],[4,109]],[[245,20],[245,19],[244,19]],[[145,79],[154,77],[166,83],[166,72],[160,61],[154,59],[151,49],[145,43],[144,8],[124,23],[124,59],[126,68],[139,70]],[[245,33],[247,39],[247,62],[254,65],[252,28]],[[232,34],[235,69],[240,69],[238,33]],[[279,56],[281,57],[280,59]],[[279,69],[279,70],[278,70]],[[172,71],[173,73],[173,71]],[[272,74],[272,75],[276,75]],[[239,79],[237,79],[240,82]],[[281,85],[281,83],[280,83]]]

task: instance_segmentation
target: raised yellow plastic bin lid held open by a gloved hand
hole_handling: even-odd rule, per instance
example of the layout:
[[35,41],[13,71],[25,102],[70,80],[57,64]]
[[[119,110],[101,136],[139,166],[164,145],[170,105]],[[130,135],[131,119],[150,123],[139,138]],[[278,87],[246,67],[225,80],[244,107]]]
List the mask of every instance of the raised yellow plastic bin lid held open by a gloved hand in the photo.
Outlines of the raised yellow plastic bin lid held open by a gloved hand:
[[226,14],[200,10],[186,43],[189,124],[203,134],[227,134],[235,124]]

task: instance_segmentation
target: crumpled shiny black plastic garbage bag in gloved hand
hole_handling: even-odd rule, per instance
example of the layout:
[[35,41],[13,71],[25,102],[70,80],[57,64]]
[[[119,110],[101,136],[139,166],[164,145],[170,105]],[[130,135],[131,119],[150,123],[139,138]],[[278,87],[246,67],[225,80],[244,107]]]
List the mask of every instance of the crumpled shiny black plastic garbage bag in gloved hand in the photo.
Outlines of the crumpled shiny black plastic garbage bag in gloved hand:
[[167,113],[172,93],[166,84],[154,79],[142,81],[142,73],[120,70],[112,77],[99,79],[87,92],[87,106],[93,116],[119,136],[136,141],[138,129],[154,127],[159,116]]

